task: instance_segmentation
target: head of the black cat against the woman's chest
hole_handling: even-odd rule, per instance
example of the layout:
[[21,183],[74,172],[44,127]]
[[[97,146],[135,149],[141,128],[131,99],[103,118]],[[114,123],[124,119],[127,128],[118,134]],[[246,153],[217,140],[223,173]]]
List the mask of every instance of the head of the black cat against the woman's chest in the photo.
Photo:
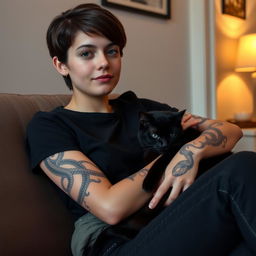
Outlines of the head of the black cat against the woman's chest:
[[181,119],[185,110],[141,112],[139,116],[138,139],[141,146],[163,153],[182,135]]

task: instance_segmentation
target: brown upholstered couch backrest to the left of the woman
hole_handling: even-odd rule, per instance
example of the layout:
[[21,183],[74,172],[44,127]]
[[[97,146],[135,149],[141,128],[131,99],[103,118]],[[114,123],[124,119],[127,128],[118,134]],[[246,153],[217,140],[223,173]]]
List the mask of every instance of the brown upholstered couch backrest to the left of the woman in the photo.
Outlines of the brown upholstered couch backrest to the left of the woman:
[[49,180],[29,168],[26,126],[68,95],[0,94],[0,255],[70,255],[73,222]]

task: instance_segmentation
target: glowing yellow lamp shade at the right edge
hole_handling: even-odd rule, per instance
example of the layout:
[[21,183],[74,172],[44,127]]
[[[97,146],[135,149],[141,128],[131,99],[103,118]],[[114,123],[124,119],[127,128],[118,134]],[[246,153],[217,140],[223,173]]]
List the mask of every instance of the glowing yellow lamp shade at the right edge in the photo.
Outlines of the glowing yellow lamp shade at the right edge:
[[235,71],[256,71],[256,33],[244,35],[239,39]]

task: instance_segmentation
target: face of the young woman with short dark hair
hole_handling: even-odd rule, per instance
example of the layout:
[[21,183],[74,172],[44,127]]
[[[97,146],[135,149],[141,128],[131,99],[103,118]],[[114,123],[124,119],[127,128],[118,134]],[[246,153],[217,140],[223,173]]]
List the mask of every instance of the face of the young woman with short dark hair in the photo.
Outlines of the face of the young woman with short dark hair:
[[74,93],[107,95],[119,81],[120,49],[105,37],[78,32],[67,59],[66,71]]

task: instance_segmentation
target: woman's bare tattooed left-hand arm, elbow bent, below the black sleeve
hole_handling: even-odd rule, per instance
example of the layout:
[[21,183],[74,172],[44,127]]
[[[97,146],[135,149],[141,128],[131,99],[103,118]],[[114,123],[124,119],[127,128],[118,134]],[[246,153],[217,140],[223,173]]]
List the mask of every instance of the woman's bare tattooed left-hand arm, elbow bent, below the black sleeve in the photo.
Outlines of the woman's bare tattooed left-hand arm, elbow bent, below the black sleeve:
[[80,151],[57,153],[43,160],[40,166],[78,204],[103,221],[115,224],[141,208],[152,196],[143,191],[142,183],[154,161],[116,184],[111,184]]

